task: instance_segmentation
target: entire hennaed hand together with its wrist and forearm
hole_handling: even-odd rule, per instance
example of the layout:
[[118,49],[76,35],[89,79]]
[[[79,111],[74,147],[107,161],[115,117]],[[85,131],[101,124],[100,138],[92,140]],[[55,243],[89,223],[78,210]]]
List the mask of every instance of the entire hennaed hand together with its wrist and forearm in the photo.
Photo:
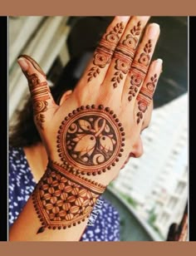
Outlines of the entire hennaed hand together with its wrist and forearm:
[[37,63],[25,55],[18,59],[49,161],[10,240],[79,240],[100,194],[130,155],[142,155],[140,132],[149,126],[162,70],[161,60],[150,63],[159,25],[145,29],[148,21],[115,17],[75,90],[59,106]]

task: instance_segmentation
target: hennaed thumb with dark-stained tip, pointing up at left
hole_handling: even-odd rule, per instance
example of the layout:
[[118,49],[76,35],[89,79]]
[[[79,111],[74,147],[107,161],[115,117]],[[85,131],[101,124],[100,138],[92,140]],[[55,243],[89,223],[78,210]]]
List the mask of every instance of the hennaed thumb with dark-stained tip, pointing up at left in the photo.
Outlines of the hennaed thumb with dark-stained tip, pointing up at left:
[[27,77],[35,121],[37,126],[43,129],[46,121],[46,115],[43,113],[55,105],[50,88],[47,85],[47,76],[32,57],[21,55],[18,57],[17,62]]

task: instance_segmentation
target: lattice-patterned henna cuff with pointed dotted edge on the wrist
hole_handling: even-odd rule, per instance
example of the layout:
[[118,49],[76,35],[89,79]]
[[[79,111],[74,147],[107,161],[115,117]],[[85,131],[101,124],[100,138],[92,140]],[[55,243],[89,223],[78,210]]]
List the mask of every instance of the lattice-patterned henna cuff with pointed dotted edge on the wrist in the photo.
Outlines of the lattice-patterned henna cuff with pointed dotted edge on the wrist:
[[32,193],[32,202],[42,223],[37,234],[46,228],[66,229],[81,224],[90,216],[98,197],[99,194],[70,180],[49,164]]

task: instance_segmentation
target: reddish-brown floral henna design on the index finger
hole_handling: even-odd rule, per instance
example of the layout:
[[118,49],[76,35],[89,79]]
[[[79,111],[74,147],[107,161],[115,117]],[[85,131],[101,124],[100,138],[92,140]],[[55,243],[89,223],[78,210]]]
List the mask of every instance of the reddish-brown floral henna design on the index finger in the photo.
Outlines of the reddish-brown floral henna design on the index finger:
[[123,32],[123,22],[117,23],[112,31],[100,40],[99,46],[96,48],[93,64],[88,72],[88,82],[100,74],[100,68],[105,67],[110,63],[111,57],[115,51],[115,46],[119,42],[120,34]]

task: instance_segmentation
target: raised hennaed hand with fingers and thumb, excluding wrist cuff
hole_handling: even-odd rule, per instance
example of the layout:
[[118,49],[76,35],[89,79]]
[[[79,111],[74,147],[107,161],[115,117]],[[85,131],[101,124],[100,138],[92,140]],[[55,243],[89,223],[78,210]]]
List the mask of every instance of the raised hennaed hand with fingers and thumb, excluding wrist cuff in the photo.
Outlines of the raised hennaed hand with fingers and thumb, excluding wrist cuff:
[[[31,57],[18,63],[27,76],[35,122],[48,157],[73,174],[108,185],[140,137],[162,70],[150,64],[159,25],[149,17],[115,17],[76,89],[61,106]],[[140,41],[141,40],[141,41]]]

